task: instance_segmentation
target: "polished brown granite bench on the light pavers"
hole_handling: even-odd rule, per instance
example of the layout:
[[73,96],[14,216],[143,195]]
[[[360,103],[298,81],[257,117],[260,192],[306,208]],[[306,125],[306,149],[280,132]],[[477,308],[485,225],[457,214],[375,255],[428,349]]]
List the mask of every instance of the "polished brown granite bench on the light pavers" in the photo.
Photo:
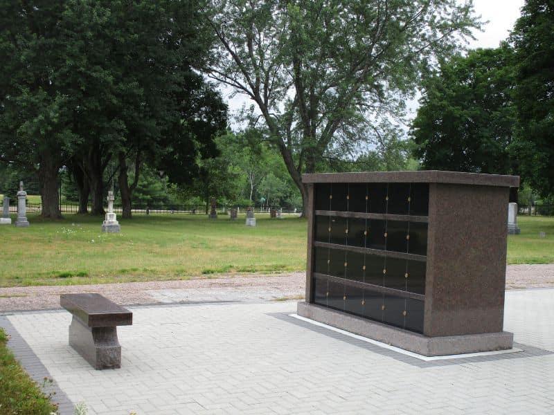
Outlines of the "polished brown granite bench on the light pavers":
[[62,294],[60,305],[73,315],[69,345],[94,369],[121,367],[117,326],[133,324],[133,313],[100,294]]

